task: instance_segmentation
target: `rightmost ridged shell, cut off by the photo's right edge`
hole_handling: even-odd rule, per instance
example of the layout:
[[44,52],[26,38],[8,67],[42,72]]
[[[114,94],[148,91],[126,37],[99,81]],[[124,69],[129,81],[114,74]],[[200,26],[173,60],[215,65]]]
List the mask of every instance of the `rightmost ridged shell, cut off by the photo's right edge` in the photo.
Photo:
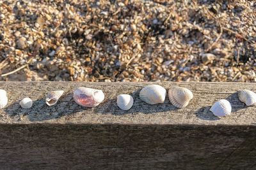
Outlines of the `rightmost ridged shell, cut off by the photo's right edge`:
[[238,98],[241,102],[245,103],[246,106],[253,106],[256,104],[256,94],[251,90],[239,90]]

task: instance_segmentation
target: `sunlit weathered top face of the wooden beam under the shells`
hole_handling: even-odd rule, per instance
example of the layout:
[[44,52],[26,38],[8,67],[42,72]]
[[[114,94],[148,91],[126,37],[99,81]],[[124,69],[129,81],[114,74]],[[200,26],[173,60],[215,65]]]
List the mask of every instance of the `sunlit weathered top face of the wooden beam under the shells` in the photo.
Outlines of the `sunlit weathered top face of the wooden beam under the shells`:
[[[175,108],[168,97],[163,104],[149,105],[138,97],[140,90],[151,83],[89,83],[89,82],[0,82],[0,88],[8,92],[9,102],[0,110],[1,124],[173,124],[173,125],[256,125],[256,107],[245,106],[237,97],[237,90],[256,91],[253,83],[156,83],[169,89],[172,86],[190,89],[194,98],[186,108]],[[72,99],[77,87],[103,90],[105,100],[96,108],[78,106]],[[65,90],[54,106],[45,104],[45,96],[51,90]],[[131,94],[134,106],[123,111],[116,106],[118,94]],[[19,106],[23,97],[31,97],[33,107],[24,110]],[[209,108],[220,99],[232,104],[229,117],[218,118]]]

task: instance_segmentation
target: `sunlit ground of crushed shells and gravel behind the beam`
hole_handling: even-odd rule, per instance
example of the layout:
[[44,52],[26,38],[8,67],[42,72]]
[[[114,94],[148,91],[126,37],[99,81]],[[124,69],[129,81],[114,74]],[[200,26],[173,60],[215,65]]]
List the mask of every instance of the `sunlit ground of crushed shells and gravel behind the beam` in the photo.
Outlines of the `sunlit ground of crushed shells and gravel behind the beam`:
[[255,36],[253,1],[0,0],[0,80],[255,82]]

